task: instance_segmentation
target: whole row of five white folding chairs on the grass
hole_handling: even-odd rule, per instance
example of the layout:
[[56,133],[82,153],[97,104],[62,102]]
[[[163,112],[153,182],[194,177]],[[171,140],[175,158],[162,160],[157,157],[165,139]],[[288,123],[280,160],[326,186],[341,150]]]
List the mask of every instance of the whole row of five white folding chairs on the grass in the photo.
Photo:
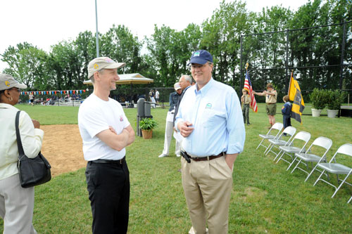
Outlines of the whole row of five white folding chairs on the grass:
[[[282,131],[283,128],[284,125],[277,122],[272,125],[267,134],[259,134],[262,140],[256,149],[258,149],[260,146],[264,147],[265,155],[268,155],[270,152],[272,152],[275,155],[274,162],[276,161],[276,163],[279,161],[287,162],[289,164],[287,171],[294,165],[295,162],[297,162],[294,169],[292,169],[291,174],[296,169],[305,172],[308,175],[305,182],[313,174],[313,171],[320,171],[320,176],[315,181],[313,186],[315,186],[318,181],[323,181],[330,186],[333,186],[335,188],[335,192],[332,197],[336,195],[337,191],[344,183],[352,186],[351,183],[346,181],[348,176],[352,174],[352,168],[337,162],[337,155],[339,155],[339,157],[340,155],[348,155],[352,157],[352,144],[346,143],[341,145],[337,152],[334,153],[332,159],[327,162],[327,152],[332,147],[331,139],[320,136],[316,138],[313,143],[311,143],[308,149],[306,149],[306,145],[308,144],[308,141],[310,141],[310,133],[306,131],[299,131],[296,134],[296,128],[293,126],[288,126],[284,129],[284,131]],[[264,144],[265,140],[268,141],[269,145]],[[301,143],[299,143],[299,141],[301,141]],[[275,152],[275,148],[279,150],[279,152]],[[317,148],[320,148],[320,150],[316,150]],[[314,151],[314,153],[312,151]],[[287,159],[287,156],[290,158]],[[309,162],[312,168],[310,171],[308,167]],[[313,166],[313,163],[315,163],[315,166]],[[302,165],[306,167],[304,168]],[[327,176],[327,181],[322,178],[324,174]],[[339,185],[338,187],[329,182],[329,174],[337,175],[337,184]],[[339,179],[339,175],[341,174],[346,175],[343,180]],[[351,200],[352,196],[347,203],[351,202]]]

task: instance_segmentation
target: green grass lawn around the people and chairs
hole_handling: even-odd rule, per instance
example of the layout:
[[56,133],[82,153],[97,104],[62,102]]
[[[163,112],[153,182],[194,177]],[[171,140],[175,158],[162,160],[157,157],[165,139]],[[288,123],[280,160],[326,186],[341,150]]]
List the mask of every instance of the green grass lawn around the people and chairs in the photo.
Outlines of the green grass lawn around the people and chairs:
[[[18,105],[41,124],[77,124],[78,108]],[[277,122],[282,122],[277,105]],[[175,157],[172,140],[170,157],[158,158],[163,150],[167,109],[156,108],[151,115],[158,122],[151,140],[136,137],[127,148],[130,168],[131,198],[129,233],[188,233],[191,221],[181,184],[180,158]],[[136,128],[137,110],[125,109]],[[304,113],[310,113],[307,106]],[[324,112],[323,112],[324,114]],[[326,116],[302,117],[303,124],[292,119],[298,131],[308,131],[312,138],[331,138],[328,160],[344,143],[352,143],[352,118]],[[230,204],[229,233],[351,233],[352,204],[346,204],[352,188],[344,186],[332,199],[334,189],[319,182],[315,172],[304,183],[306,174],[286,171],[288,164],[272,162],[274,156],[256,150],[258,134],[268,131],[264,105],[258,113],[250,112],[251,125],[246,126],[244,152],[234,163],[234,183]],[[44,136],[45,137],[45,136]],[[77,139],[80,141],[80,139]],[[352,160],[344,160],[346,164]],[[331,176],[336,184],[336,176]],[[349,179],[352,183],[352,178]],[[56,176],[35,189],[34,227],[38,233],[90,233],[90,210],[84,169]],[[2,221],[0,231],[2,232]]]

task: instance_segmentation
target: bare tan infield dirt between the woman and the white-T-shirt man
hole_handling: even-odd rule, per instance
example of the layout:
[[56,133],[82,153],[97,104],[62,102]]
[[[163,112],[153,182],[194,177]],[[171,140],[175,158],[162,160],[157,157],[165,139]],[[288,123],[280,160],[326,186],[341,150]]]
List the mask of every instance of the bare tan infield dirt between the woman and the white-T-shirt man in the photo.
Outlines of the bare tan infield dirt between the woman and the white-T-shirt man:
[[40,129],[44,131],[42,154],[51,164],[51,176],[86,167],[77,124],[42,125]]

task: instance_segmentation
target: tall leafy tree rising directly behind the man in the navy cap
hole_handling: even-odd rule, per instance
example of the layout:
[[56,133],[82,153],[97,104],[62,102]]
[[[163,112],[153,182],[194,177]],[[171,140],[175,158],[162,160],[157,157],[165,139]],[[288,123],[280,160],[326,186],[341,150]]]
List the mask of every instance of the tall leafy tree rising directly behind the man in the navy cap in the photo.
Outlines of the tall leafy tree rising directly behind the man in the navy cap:
[[246,4],[241,1],[225,3],[215,9],[210,19],[202,24],[201,48],[213,55],[213,78],[220,82],[239,85],[240,35],[249,32],[251,23]]

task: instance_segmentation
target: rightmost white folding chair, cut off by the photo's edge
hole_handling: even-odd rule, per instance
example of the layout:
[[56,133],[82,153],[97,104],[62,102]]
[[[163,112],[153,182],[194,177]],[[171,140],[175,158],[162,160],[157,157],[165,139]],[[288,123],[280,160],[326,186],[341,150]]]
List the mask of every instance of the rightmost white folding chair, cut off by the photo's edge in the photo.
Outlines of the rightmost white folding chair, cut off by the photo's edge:
[[[324,181],[325,183],[329,184],[330,186],[335,188],[335,193],[332,195],[332,197],[334,197],[334,195],[337,193],[337,191],[341,188],[341,186],[344,183],[347,183],[349,186],[352,186],[351,183],[346,182],[346,179],[348,178],[348,176],[350,176],[352,174],[352,168],[350,167],[346,167],[343,164],[339,164],[336,162],[336,156],[337,154],[341,154],[341,155],[348,155],[352,157],[352,144],[344,144],[341,145],[339,147],[339,149],[337,150],[337,152],[335,152],[334,156],[332,157],[332,159],[328,162],[328,163],[318,163],[318,167],[320,169],[322,169],[322,173],[320,174],[320,176],[318,177],[317,181],[315,181],[314,185],[318,183],[318,181]],[[333,162],[334,161],[334,162]],[[324,179],[322,179],[322,174],[324,174],[325,172],[329,172],[331,174],[336,174],[337,175],[337,184],[339,184],[340,181],[342,181],[339,185],[339,187],[337,188],[336,186],[334,186],[332,183],[329,183],[328,181],[325,181]],[[346,177],[344,178],[344,180],[339,179],[339,174],[345,174]],[[348,200],[348,202],[351,202],[352,197],[350,198],[350,200]]]

